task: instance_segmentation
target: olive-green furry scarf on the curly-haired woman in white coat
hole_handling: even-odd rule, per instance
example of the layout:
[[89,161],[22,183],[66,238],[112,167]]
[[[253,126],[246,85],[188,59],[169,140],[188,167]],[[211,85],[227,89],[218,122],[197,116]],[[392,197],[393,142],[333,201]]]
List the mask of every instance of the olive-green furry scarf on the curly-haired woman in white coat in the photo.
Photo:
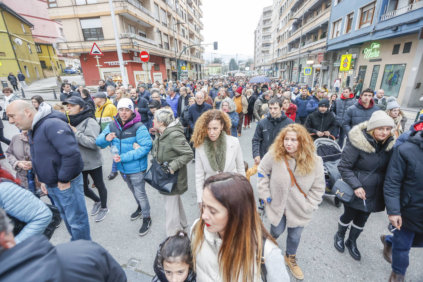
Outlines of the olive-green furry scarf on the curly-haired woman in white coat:
[[222,172],[225,168],[226,161],[226,133],[221,132],[217,138],[216,146],[209,137],[204,138],[204,153],[209,160],[210,167],[213,171]]

